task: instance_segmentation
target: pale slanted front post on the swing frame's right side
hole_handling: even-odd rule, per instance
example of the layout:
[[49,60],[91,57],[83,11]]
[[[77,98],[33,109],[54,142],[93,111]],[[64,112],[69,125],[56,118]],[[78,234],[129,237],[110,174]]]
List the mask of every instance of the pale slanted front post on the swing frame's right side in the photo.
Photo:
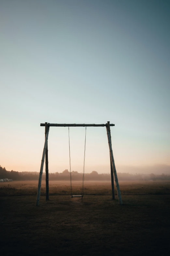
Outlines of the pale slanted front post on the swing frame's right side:
[[118,193],[118,200],[119,200],[119,204],[123,204],[122,199],[121,199],[121,192],[120,192],[116,167],[115,167],[115,161],[114,161],[114,157],[113,157],[113,150],[112,150],[112,144],[111,144],[111,139],[110,139],[110,133],[108,131],[107,126],[106,126],[106,131],[107,131],[107,139],[108,139],[108,145],[109,145],[109,151],[110,151],[110,158],[111,158],[111,162],[112,162],[112,168],[113,168],[113,173],[114,173],[114,178],[115,178],[116,188],[117,188],[117,193]]

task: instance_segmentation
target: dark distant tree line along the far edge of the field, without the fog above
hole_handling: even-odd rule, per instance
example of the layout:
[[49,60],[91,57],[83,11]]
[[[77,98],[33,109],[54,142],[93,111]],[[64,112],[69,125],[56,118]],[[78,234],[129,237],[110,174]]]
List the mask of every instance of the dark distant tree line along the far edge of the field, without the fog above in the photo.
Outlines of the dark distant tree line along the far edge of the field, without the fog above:
[[[151,174],[130,174],[130,173],[117,173],[119,180],[170,180],[170,175],[155,175]],[[82,173],[72,171],[72,180],[82,180]],[[13,180],[38,180],[39,172],[17,172],[7,171],[6,168],[0,165],[0,179],[13,179]],[[45,180],[45,172],[43,173],[42,180]],[[110,173],[99,174],[96,171],[85,173],[85,180],[110,180]],[[70,172],[66,169],[62,173],[55,172],[49,173],[49,180],[70,180]]]

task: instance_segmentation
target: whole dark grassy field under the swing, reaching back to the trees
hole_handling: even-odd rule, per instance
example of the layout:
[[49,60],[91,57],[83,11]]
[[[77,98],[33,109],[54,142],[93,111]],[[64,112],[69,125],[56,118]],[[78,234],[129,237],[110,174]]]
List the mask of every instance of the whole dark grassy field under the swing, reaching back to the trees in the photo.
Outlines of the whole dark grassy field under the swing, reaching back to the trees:
[[0,183],[1,255],[170,255],[170,182],[120,182],[122,206],[107,181],[85,182],[83,200],[50,181],[47,202],[43,182],[35,207],[37,183]]

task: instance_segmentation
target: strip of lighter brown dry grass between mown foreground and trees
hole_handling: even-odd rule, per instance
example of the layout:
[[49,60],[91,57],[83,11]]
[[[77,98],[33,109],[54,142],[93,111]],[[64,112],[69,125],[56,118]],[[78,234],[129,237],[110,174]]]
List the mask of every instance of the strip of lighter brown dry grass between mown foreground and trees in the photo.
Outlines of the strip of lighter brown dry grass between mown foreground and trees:
[[[119,183],[122,195],[170,195],[170,181],[121,181]],[[37,186],[38,181],[2,182],[0,196],[36,195]],[[69,181],[50,181],[49,187],[50,195],[70,195]],[[72,187],[74,195],[81,194],[81,181],[73,181]],[[45,194],[45,181],[42,181],[41,195]],[[111,182],[85,181],[84,195],[111,195]]]

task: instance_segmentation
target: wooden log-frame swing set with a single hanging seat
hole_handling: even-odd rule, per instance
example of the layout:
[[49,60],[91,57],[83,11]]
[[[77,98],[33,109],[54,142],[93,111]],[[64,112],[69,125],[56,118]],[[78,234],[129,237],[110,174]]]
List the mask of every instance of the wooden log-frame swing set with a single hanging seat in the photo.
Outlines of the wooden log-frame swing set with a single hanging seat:
[[[37,198],[36,198],[36,206],[39,206],[39,200],[40,200],[40,193],[41,193],[41,180],[42,180],[42,174],[43,174],[43,166],[44,166],[44,160],[46,159],[46,200],[49,200],[49,162],[48,162],[48,136],[49,136],[49,129],[51,127],[68,127],[68,138],[69,138],[69,160],[70,160],[70,195],[71,197],[81,197],[81,199],[84,196],[84,172],[85,172],[85,152],[86,152],[86,128],[87,127],[104,127],[106,126],[107,131],[107,139],[108,139],[108,145],[109,145],[109,151],[110,151],[110,172],[111,172],[111,184],[112,184],[112,199],[115,199],[114,194],[114,179],[116,183],[117,193],[118,193],[118,200],[119,204],[122,204],[121,199],[121,192],[113,157],[113,151],[112,151],[112,144],[111,144],[111,133],[110,133],[110,126],[115,126],[114,124],[110,124],[108,121],[106,124],[40,124],[40,126],[45,126],[45,143],[44,143],[44,149],[42,154],[42,160],[41,160],[41,167],[40,167],[40,173],[39,173],[39,180],[38,180],[38,191],[37,191]],[[72,178],[71,178],[71,157],[70,157],[70,132],[69,127],[85,127],[85,144],[84,144],[84,163],[83,163],[83,180],[82,180],[82,192],[81,195],[73,195],[72,191]]]

